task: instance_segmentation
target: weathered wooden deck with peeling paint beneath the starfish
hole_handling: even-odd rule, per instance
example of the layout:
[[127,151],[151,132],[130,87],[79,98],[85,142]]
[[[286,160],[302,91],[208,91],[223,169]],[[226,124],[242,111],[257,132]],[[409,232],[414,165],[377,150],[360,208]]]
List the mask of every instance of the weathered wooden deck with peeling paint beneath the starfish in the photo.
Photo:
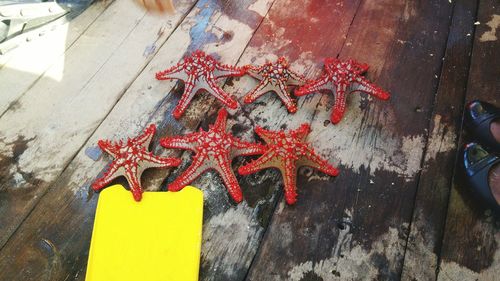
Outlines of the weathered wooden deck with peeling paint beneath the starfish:
[[[299,98],[294,115],[271,95],[231,112],[229,128],[246,140],[257,124],[310,123],[308,140],[341,174],[301,169],[292,207],[274,170],[239,177],[239,205],[216,174],[202,176],[201,280],[498,280],[500,219],[473,197],[458,161],[464,103],[500,106],[497,0],[183,0],[177,9],[158,17],[133,1],[98,2],[0,56],[0,280],[84,280],[98,198],[89,186],[109,159],[89,157],[98,139],[155,123],[154,149],[189,159],[158,138],[206,128],[221,105],[198,95],[176,121],[181,83],[154,74],[195,49],[238,65],[283,55],[309,78],[324,57],[354,58],[392,93],[388,102],[349,95],[338,125],[330,95]],[[243,77],[224,87],[241,101],[253,86]],[[152,170],[143,182],[164,189],[177,173]]]

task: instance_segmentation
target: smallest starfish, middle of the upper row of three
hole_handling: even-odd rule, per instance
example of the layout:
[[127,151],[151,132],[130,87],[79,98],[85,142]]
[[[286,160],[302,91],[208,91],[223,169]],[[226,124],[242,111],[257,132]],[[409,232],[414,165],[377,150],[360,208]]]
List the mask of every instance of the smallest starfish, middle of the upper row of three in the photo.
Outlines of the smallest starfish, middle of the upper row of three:
[[288,112],[297,111],[297,105],[288,92],[288,86],[299,86],[307,80],[304,76],[292,71],[284,57],[279,57],[274,64],[268,62],[259,67],[247,66],[247,73],[260,80],[260,83],[245,96],[245,103],[252,103],[265,93],[275,92],[285,104]]

